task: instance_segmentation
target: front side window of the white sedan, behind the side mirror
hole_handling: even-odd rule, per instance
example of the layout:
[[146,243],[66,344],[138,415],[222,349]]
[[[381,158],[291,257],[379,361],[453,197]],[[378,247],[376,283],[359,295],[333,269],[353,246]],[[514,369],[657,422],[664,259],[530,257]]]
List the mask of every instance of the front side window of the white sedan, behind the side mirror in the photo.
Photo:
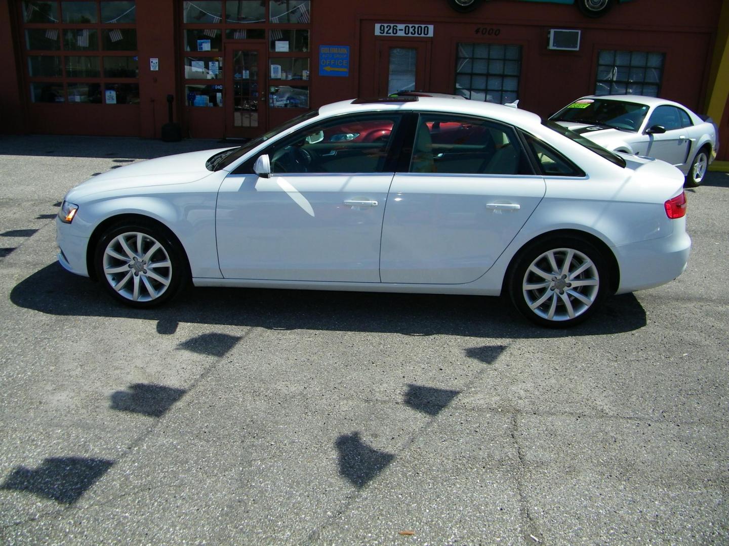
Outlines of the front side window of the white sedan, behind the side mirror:
[[264,153],[275,174],[380,173],[400,117],[376,114],[327,119],[297,131]]

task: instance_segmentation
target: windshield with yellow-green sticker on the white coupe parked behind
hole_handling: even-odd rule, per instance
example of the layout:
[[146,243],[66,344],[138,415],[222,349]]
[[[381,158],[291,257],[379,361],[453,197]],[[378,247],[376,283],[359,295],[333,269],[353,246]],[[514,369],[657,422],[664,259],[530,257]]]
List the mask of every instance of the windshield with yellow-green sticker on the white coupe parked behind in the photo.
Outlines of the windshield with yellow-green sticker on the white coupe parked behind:
[[648,113],[646,104],[628,103],[623,100],[581,98],[562,108],[550,117],[555,122],[575,122],[621,131],[636,132]]

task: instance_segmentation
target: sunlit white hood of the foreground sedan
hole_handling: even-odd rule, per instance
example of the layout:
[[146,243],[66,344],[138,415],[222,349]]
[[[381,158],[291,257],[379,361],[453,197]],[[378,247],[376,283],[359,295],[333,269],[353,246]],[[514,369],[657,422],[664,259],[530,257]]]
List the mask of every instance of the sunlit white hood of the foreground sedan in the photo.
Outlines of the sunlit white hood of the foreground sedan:
[[211,175],[205,163],[214,154],[228,148],[191,151],[187,154],[147,159],[101,173],[69,191],[66,199],[73,202],[102,191],[116,191],[150,186],[166,186],[194,182]]

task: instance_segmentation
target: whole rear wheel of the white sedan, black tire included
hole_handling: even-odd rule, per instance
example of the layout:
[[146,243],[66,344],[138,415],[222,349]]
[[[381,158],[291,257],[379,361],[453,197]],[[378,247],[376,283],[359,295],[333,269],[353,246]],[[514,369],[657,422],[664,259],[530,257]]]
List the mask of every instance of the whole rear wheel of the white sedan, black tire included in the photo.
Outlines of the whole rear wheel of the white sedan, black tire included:
[[[549,253],[557,266],[556,272]],[[567,258],[570,258],[569,268],[565,270]],[[536,274],[531,266],[542,275]],[[586,269],[580,272],[582,266]],[[564,271],[566,277],[562,277]],[[554,237],[527,245],[515,257],[507,277],[507,289],[516,309],[533,323],[548,328],[582,323],[599,307],[609,285],[604,256],[590,242],[577,237]]]

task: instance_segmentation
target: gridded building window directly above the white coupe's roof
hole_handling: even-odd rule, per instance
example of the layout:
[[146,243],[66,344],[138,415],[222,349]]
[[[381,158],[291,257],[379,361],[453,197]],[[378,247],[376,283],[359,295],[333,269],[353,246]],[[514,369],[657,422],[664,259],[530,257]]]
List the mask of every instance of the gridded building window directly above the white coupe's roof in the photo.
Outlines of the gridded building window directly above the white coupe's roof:
[[595,94],[658,97],[665,60],[664,53],[600,50]]

